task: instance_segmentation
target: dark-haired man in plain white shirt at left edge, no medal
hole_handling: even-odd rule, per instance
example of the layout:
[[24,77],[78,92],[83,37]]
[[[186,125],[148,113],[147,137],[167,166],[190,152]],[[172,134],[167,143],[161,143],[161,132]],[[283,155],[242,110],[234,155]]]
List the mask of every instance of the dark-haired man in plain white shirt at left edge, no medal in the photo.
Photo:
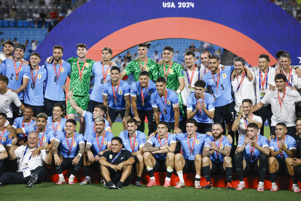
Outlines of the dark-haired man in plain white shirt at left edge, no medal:
[[14,103],[22,111],[24,111],[24,105],[18,98],[18,95],[12,90],[8,90],[8,77],[0,75],[0,112],[7,115],[7,120],[10,124],[13,124],[13,109],[11,103]]

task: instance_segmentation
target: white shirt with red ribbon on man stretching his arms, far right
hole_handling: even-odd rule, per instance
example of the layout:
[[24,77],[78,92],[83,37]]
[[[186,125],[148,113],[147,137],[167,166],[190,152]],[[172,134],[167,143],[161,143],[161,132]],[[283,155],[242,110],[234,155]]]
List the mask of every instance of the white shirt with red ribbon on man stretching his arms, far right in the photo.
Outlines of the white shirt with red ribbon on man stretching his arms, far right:
[[[281,100],[283,100],[283,93],[279,92]],[[291,90],[286,87],[284,101],[282,103],[282,110],[278,100],[278,90],[268,90],[266,95],[262,98],[263,104],[271,104],[273,116],[271,118],[271,126],[276,126],[277,123],[283,122],[287,127],[295,126],[295,103],[301,101],[301,95],[296,90]]]

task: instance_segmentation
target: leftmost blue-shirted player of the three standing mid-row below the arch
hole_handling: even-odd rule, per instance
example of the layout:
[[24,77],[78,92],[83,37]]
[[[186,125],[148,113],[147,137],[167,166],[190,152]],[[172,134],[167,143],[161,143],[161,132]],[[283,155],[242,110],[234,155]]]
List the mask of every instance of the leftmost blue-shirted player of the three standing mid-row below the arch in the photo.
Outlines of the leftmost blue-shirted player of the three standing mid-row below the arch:
[[[129,116],[129,84],[119,79],[120,69],[116,66],[111,68],[111,81],[103,85],[103,105],[107,108],[106,119],[112,124],[120,114],[124,130]],[[110,102],[108,103],[108,100]]]

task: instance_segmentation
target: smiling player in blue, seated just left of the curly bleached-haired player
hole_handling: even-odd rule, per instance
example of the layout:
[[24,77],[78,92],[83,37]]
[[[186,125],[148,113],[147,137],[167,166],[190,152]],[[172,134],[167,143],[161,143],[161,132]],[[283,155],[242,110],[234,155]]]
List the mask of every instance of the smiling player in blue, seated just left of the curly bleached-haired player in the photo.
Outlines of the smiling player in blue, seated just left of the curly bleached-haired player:
[[[33,114],[34,114],[33,109],[30,106],[26,106],[23,111],[23,117],[17,117],[14,120],[12,127],[13,128],[23,128],[26,126],[35,125],[36,122],[33,119],[31,119]],[[25,143],[26,140],[27,139],[25,138],[24,134],[19,134],[17,144],[21,146],[22,144]]]

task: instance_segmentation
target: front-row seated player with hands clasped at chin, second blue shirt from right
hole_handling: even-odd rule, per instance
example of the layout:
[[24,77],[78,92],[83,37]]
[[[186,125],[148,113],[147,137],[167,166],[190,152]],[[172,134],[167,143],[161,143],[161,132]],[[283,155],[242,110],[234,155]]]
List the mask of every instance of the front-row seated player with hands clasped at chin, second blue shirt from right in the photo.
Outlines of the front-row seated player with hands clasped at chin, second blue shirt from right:
[[259,172],[260,179],[257,191],[264,190],[263,182],[267,172],[268,147],[267,138],[258,134],[258,125],[249,123],[247,134],[239,139],[234,155],[235,170],[239,178],[236,190],[245,189],[243,171],[245,174],[258,174]]

